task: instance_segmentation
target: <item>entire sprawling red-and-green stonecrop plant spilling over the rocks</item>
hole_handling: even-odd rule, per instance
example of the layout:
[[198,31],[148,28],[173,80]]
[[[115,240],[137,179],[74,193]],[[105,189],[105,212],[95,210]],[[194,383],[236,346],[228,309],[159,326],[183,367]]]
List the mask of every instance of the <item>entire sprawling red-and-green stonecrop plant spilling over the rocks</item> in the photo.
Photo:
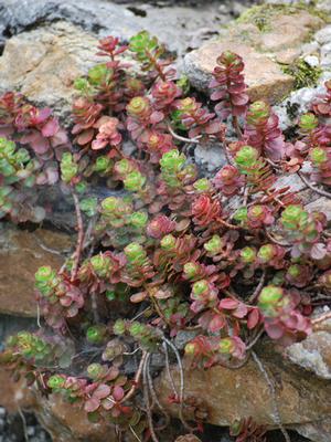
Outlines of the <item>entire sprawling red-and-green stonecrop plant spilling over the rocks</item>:
[[[185,364],[237,368],[263,336],[282,346],[303,339],[321,293],[330,302],[329,221],[279,185],[298,176],[331,197],[330,82],[286,139],[270,105],[249,102],[233,52],[216,61],[214,108],[147,32],[128,44],[105,38],[97,54],[102,62],[75,82],[71,134],[19,94],[0,99],[0,215],[39,222],[38,188],[60,180],[77,217],[72,256],[35,273],[41,328],[11,337],[1,360],[93,422],[158,442],[169,417],[153,387],[156,355],[178,364],[169,401],[183,430],[203,425],[185,419],[179,334]],[[206,173],[189,154],[197,144],[216,144],[227,164]],[[108,196],[90,197],[100,185]],[[243,428],[237,440],[265,434]]]

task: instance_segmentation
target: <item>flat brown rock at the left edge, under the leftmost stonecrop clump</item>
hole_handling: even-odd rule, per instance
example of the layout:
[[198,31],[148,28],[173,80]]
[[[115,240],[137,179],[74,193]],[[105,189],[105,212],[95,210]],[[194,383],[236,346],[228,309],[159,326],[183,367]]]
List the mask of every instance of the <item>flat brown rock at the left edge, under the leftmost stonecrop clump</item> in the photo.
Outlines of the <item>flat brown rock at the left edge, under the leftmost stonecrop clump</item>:
[[0,245],[0,313],[35,316],[34,273],[41,265],[58,269],[72,239],[45,229],[31,233],[2,222]]

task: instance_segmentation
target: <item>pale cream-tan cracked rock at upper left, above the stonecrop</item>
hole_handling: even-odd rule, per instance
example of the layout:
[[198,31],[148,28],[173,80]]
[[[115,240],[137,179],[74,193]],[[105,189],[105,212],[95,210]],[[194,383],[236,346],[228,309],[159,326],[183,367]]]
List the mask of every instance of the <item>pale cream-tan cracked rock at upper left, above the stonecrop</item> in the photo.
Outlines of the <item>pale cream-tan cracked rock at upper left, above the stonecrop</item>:
[[64,117],[73,82],[95,64],[97,40],[71,23],[24,32],[8,40],[0,57],[0,88],[17,90]]

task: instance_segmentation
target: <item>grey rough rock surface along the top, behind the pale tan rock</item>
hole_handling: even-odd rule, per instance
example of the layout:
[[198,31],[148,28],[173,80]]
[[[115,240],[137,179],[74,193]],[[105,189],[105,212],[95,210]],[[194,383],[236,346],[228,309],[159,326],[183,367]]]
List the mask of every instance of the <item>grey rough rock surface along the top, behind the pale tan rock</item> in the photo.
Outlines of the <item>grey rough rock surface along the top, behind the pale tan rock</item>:
[[218,33],[221,24],[254,0],[244,3],[227,0],[221,6],[192,1],[195,9],[189,8],[190,1],[117,2],[125,4],[103,0],[3,0],[0,4],[0,44],[8,36],[36,29],[42,23],[65,20],[94,34],[113,34],[125,40],[147,29],[180,55]]

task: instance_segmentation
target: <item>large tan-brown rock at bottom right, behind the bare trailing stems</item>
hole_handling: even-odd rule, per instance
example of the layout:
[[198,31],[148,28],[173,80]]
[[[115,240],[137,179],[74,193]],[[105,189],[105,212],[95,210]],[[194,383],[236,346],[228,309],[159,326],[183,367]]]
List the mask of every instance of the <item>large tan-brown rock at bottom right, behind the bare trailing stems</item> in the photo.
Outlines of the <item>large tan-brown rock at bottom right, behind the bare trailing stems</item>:
[[[331,383],[292,365],[275,351],[273,343],[264,343],[258,355],[275,382],[284,425],[305,434],[309,432],[312,441],[330,442]],[[269,387],[253,358],[239,369],[215,366],[200,370],[192,369],[188,361],[184,365],[185,397],[203,400],[201,406],[207,410],[209,423],[231,425],[236,419],[252,417],[258,424],[277,427]],[[178,368],[172,370],[172,376],[178,386]],[[163,406],[177,415],[178,406],[168,401],[172,390],[166,372],[158,380],[157,390]],[[186,410],[188,418],[192,418],[190,412]]]

